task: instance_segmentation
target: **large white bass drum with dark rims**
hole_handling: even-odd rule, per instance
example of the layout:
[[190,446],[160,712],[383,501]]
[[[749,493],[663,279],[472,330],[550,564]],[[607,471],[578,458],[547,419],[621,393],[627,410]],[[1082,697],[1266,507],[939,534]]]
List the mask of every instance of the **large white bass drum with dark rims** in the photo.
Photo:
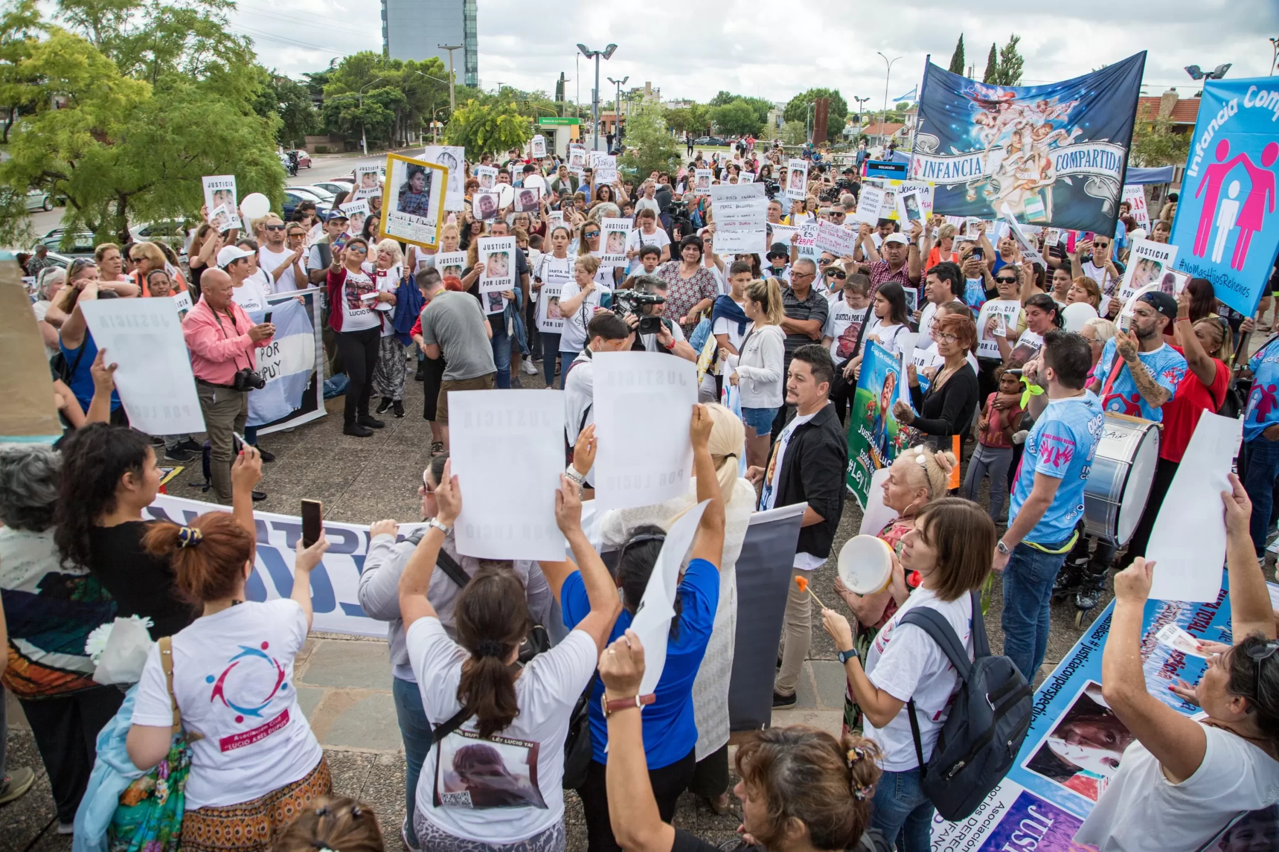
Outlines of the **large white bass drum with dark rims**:
[[1157,423],[1106,411],[1083,484],[1083,530],[1115,547],[1127,544],[1146,508],[1157,461]]

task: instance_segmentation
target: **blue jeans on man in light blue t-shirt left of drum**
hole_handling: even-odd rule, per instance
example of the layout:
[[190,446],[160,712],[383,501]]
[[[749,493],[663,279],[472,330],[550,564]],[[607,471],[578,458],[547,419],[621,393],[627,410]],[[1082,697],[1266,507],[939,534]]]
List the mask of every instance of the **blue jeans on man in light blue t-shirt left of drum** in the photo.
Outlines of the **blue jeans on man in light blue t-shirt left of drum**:
[[[1045,544],[1056,551],[1065,542]],[[1049,604],[1053,581],[1065,563],[1065,553],[1044,553],[1022,542],[1004,567],[1004,655],[1031,683],[1048,651]]]

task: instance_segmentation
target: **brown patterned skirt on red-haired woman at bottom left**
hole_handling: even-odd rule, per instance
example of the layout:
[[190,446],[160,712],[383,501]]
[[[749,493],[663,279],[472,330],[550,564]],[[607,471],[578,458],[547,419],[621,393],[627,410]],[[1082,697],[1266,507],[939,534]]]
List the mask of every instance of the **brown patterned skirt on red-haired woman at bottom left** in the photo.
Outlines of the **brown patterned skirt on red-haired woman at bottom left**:
[[333,792],[324,757],[301,780],[266,796],[225,807],[187,811],[182,820],[183,852],[270,852],[284,829],[312,800]]

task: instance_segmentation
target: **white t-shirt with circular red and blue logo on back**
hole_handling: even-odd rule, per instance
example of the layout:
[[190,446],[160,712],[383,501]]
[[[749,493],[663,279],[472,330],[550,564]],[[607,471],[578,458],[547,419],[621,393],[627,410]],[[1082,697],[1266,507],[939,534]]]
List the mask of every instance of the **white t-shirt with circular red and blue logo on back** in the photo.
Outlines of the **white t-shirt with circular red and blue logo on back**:
[[[324,752],[298,708],[293,659],[307,617],[293,600],[247,602],[197,618],[173,637],[173,692],[191,746],[187,810],[265,796],[307,775]],[[160,648],[138,683],[133,724],[173,724]]]

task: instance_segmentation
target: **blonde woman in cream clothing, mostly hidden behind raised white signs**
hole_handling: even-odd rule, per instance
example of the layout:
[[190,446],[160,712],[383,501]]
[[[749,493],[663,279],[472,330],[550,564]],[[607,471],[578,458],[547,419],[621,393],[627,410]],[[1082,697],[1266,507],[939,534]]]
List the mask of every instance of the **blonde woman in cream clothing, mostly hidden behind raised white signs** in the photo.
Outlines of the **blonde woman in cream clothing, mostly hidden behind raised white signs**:
[[[693,681],[693,717],[697,722],[697,769],[689,789],[710,801],[716,814],[728,812],[728,687],[733,672],[733,640],[737,635],[737,559],[755,510],[755,485],[741,476],[746,451],[746,427],[742,420],[719,404],[707,405],[711,434],[706,448],[724,494],[724,554],[720,562],[719,608],[706,657]],[[581,456],[581,457],[578,457]],[[573,468],[583,476],[595,459],[595,442],[574,445]],[[670,525],[696,505],[696,489],[654,506],[610,510],[600,519],[600,535],[606,548],[625,544],[641,526]]]

